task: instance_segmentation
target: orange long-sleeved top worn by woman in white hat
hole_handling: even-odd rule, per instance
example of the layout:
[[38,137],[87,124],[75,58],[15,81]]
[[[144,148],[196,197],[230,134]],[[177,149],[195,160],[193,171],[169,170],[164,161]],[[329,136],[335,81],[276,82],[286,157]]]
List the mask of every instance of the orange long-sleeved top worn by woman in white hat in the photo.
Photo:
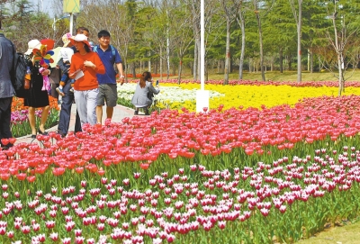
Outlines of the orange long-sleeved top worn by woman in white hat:
[[[85,61],[92,61],[96,68],[85,67]],[[102,60],[99,58],[96,52],[87,52],[85,55],[81,55],[76,52],[71,58],[70,71],[68,74],[73,74],[76,70],[82,69],[84,76],[76,79],[74,83],[74,89],[76,91],[87,91],[95,89],[99,86],[96,78],[96,74],[105,74],[105,67]]]

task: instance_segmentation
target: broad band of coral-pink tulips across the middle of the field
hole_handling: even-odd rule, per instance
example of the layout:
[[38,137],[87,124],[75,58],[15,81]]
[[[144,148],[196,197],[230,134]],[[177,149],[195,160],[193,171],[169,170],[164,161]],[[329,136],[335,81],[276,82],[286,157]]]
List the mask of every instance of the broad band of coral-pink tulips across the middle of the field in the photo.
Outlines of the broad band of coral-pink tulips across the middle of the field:
[[[52,132],[38,136],[41,147],[18,143],[3,151],[0,176],[33,176],[53,166],[54,174],[74,168],[96,172],[111,165],[120,169],[113,174],[126,176],[119,166],[122,162],[161,164],[175,159],[181,164],[187,158],[225,168],[233,167],[240,159],[244,160],[242,164],[253,166],[263,156],[281,157],[290,149],[311,153],[315,147],[326,147],[331,140],[357,141],[359,104],[358,96],[323,97],[307,99],[294,108],[284,105],[222,111],[219,107],[198,114],[165,110],[148,118],[125,118],[122,123],[85,125],[84,132],[76,136],[69,134],[60,140]],[[56,143],[52,143],[53,139]],[[253,157],[247,157],[250,155]],[[171,167],[161,164],[159,168],[168,171]]]

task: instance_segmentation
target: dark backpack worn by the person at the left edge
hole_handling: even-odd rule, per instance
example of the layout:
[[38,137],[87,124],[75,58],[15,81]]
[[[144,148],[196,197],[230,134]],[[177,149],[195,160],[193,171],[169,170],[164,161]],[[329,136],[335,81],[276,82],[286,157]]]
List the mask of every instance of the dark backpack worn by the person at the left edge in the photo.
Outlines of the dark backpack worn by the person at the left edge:
[[25,82],[25,73],[26,61],[23,57],[23,53],[16,52],[14,49],[13,68],[10,72],[10,78],[14,86],[15,95],[21,98],[25,98],[29,93],[29,90],[23,88]]

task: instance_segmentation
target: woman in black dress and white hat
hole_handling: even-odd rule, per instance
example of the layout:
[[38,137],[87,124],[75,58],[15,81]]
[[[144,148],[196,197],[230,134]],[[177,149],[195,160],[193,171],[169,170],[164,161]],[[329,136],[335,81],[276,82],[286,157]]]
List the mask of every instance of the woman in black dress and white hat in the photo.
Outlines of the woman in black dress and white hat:
[[[45,131],[45,122],[49,115],[49,95],[48,91],[43,91],[43,76],[49,76],[50,70],[44,69],[40,66],[39,61],[34,60],[32,50],[40,50],[41,42],[39,40],[31,40],[28,42],[28,50],[24,53],[27,66],[31,69],[31,82],[29,95],[24,99],[24,105],[29,106],[29,122],[31,127],[31,138],[36,138],[36,124],[35,124],[35,109],[42,108],[39,134],[48,134]],[[42,70],[40,72],[40,70]]]

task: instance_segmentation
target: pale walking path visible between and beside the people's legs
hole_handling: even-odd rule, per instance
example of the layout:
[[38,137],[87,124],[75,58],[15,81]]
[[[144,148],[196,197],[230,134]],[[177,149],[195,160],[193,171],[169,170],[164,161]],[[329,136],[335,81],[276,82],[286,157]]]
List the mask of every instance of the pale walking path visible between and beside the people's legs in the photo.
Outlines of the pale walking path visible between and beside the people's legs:
[[[128,107],[124,107],[121,105],[116,105],[113,108],[113,114],[112,114],[112,122],[121,122],[121,120],[125,117],[132,118],[134,116],[134,110],[130,109]],[[106,106],[103,106],[103,122],[106,118]],[[73,104],[71,107],[71,118],[70,118],[70,126],[68,128],[68,131],[74,131],[75,126],[75,120],[76,120],[76,104]],[[51,127],[47,129],[46,131],[58,131],[58,125]],[[19,137],[16,139],[15,145],[21,142],[26,143],[40,143],[38,140],[31,139],[31,135],[26,135],[23,137]]]

